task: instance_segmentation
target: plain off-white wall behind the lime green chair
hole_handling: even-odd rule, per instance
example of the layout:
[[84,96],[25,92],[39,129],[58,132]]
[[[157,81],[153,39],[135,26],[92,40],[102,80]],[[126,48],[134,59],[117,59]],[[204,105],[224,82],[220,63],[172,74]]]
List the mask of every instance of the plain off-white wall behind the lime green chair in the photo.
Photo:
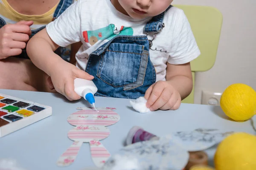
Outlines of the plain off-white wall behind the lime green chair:
[[256,90],[256,0],[174,0],[172,4],[212,6],[223,15],[215,65],[196,73],[195,103],[201,104],[203,90],[222,93],[233,83]]

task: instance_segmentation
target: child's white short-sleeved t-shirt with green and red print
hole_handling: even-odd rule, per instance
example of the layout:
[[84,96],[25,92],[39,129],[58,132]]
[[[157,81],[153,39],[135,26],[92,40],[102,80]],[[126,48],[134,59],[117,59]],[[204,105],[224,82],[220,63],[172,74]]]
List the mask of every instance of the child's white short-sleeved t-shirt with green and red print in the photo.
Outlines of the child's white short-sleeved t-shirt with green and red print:
[[[76,54],[76,66],[85,70],[89,55],[113,38],[114,34],[127,27],[130,28],[126,29],[127,35],[146,35],[144,26],[150,19],[135,20],[122,14],[110,0],[78,0],[46,28],[49,37],[59,46],[65,47],[79,41],[83,43]],[[181,9],[170,8],[163,23],[165,27],[156,34],[151,47],[153,50],[149,52],[157,81],[166,80],[166,62],[184,64],[200,55],[189,22]],[[152,40],[152,34],[148,35],[148,39]]]

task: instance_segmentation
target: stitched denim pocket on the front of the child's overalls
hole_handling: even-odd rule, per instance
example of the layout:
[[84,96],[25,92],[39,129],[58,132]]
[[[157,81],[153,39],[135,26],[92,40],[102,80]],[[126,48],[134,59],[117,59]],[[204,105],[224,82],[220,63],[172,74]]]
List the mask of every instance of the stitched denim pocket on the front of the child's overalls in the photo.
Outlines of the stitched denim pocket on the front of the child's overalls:
[[147,62],[144,45],[113,42],[100,55],[97,77],[115,88],[130,90],[143,85]]

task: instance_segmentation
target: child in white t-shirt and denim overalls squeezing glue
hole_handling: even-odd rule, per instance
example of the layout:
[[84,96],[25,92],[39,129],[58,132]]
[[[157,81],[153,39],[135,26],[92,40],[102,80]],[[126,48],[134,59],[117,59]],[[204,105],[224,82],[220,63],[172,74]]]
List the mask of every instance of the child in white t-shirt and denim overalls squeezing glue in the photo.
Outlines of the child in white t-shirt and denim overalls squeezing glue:
[[[27,45],[52,88],[79,99],[74,79],[92,79],[96,96],[136,99],[176,110],[192,91],[190,61],[200,54],[189,22],[172,0],[78,0]],[[53,51],[82,42],[76,66]]]

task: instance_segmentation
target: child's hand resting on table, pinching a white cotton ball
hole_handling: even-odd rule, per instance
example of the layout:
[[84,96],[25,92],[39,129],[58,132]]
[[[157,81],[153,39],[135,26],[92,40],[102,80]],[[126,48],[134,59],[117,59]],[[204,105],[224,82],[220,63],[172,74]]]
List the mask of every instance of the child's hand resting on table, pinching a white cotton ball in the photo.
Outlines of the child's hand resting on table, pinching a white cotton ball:
[[145,93],[145,99],[151,111],[177,110],[181,103],[179,92],[168,81],[158,81],[151,85]]

